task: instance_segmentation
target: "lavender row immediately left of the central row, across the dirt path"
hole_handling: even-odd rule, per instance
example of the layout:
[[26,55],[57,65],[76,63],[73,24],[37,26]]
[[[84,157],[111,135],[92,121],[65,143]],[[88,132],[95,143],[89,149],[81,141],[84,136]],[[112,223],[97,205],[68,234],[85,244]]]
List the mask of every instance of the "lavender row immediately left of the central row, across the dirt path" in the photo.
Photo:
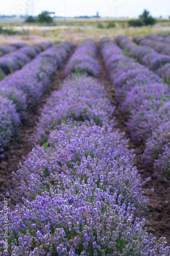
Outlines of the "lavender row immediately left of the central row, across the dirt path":
[[39,102],[50,85],[51,77],[74,48],[72,42],[53,46],[0,82],[1,152],[17,134],[20,122],[27,118],[30,109]]

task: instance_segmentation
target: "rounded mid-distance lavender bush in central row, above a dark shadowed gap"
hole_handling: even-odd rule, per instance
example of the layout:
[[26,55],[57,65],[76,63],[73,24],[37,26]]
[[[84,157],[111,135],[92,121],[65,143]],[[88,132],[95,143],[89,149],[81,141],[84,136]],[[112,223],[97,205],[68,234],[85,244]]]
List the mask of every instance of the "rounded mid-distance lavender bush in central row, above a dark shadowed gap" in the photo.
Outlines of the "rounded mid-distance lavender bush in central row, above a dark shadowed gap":
[[[87,96],[88,95],[88,96]],[[44,141],[50,131],[70,119],[73,121],[95,122],[102,125],[109,123],[112,108],[106,92],[91,77],[68,77],[59,91],[52,93],[47,100],[37,124],[36,140]]]

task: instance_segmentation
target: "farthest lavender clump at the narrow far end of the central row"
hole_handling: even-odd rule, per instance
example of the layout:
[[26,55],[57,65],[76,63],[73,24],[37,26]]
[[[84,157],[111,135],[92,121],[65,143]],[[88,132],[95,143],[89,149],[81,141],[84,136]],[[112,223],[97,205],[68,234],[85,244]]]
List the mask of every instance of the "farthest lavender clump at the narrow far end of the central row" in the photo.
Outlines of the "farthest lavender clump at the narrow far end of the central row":
[[95,60],[97,48],[92,39],[85,39],[76,49],[67,63],[65,74],[86,73],[90,76],[98,76],[100,66]]

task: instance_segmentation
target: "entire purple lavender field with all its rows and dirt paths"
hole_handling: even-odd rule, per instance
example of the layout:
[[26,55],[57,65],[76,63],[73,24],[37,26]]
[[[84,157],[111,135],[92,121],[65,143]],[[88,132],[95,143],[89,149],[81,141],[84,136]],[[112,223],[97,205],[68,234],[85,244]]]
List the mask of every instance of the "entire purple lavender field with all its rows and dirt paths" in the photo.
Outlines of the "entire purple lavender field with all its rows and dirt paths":
[[169,256],[170,35],[0,56],[0,255]]

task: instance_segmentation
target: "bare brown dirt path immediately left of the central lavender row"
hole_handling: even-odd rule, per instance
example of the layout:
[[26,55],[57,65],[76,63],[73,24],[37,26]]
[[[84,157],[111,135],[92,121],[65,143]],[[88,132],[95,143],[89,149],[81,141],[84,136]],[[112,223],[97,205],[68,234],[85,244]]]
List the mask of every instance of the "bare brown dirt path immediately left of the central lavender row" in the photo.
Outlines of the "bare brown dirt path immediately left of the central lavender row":
[[[70,55],[71,56],[71,55]],[[60,83],[63,82],[65,75],[64,70],[70,56],[64,61],[60,70],[57,70],[52,81],[52,87],[43,95],[36,108],[29,114],[27,121],[22,125],[19,136],[11,143],[11,148],[4,152],[5,157],[0,159],[0,194],[5,195],[5,189],[10,189],[12,172],[16,172],[19,163],[22,163],[23,157],[27,156],[34,145],[30,138],[35,131],[35,124],[38,121],[40,110],[52,92],[59,89]],[[2,201],[2,198],[0,197]]]

